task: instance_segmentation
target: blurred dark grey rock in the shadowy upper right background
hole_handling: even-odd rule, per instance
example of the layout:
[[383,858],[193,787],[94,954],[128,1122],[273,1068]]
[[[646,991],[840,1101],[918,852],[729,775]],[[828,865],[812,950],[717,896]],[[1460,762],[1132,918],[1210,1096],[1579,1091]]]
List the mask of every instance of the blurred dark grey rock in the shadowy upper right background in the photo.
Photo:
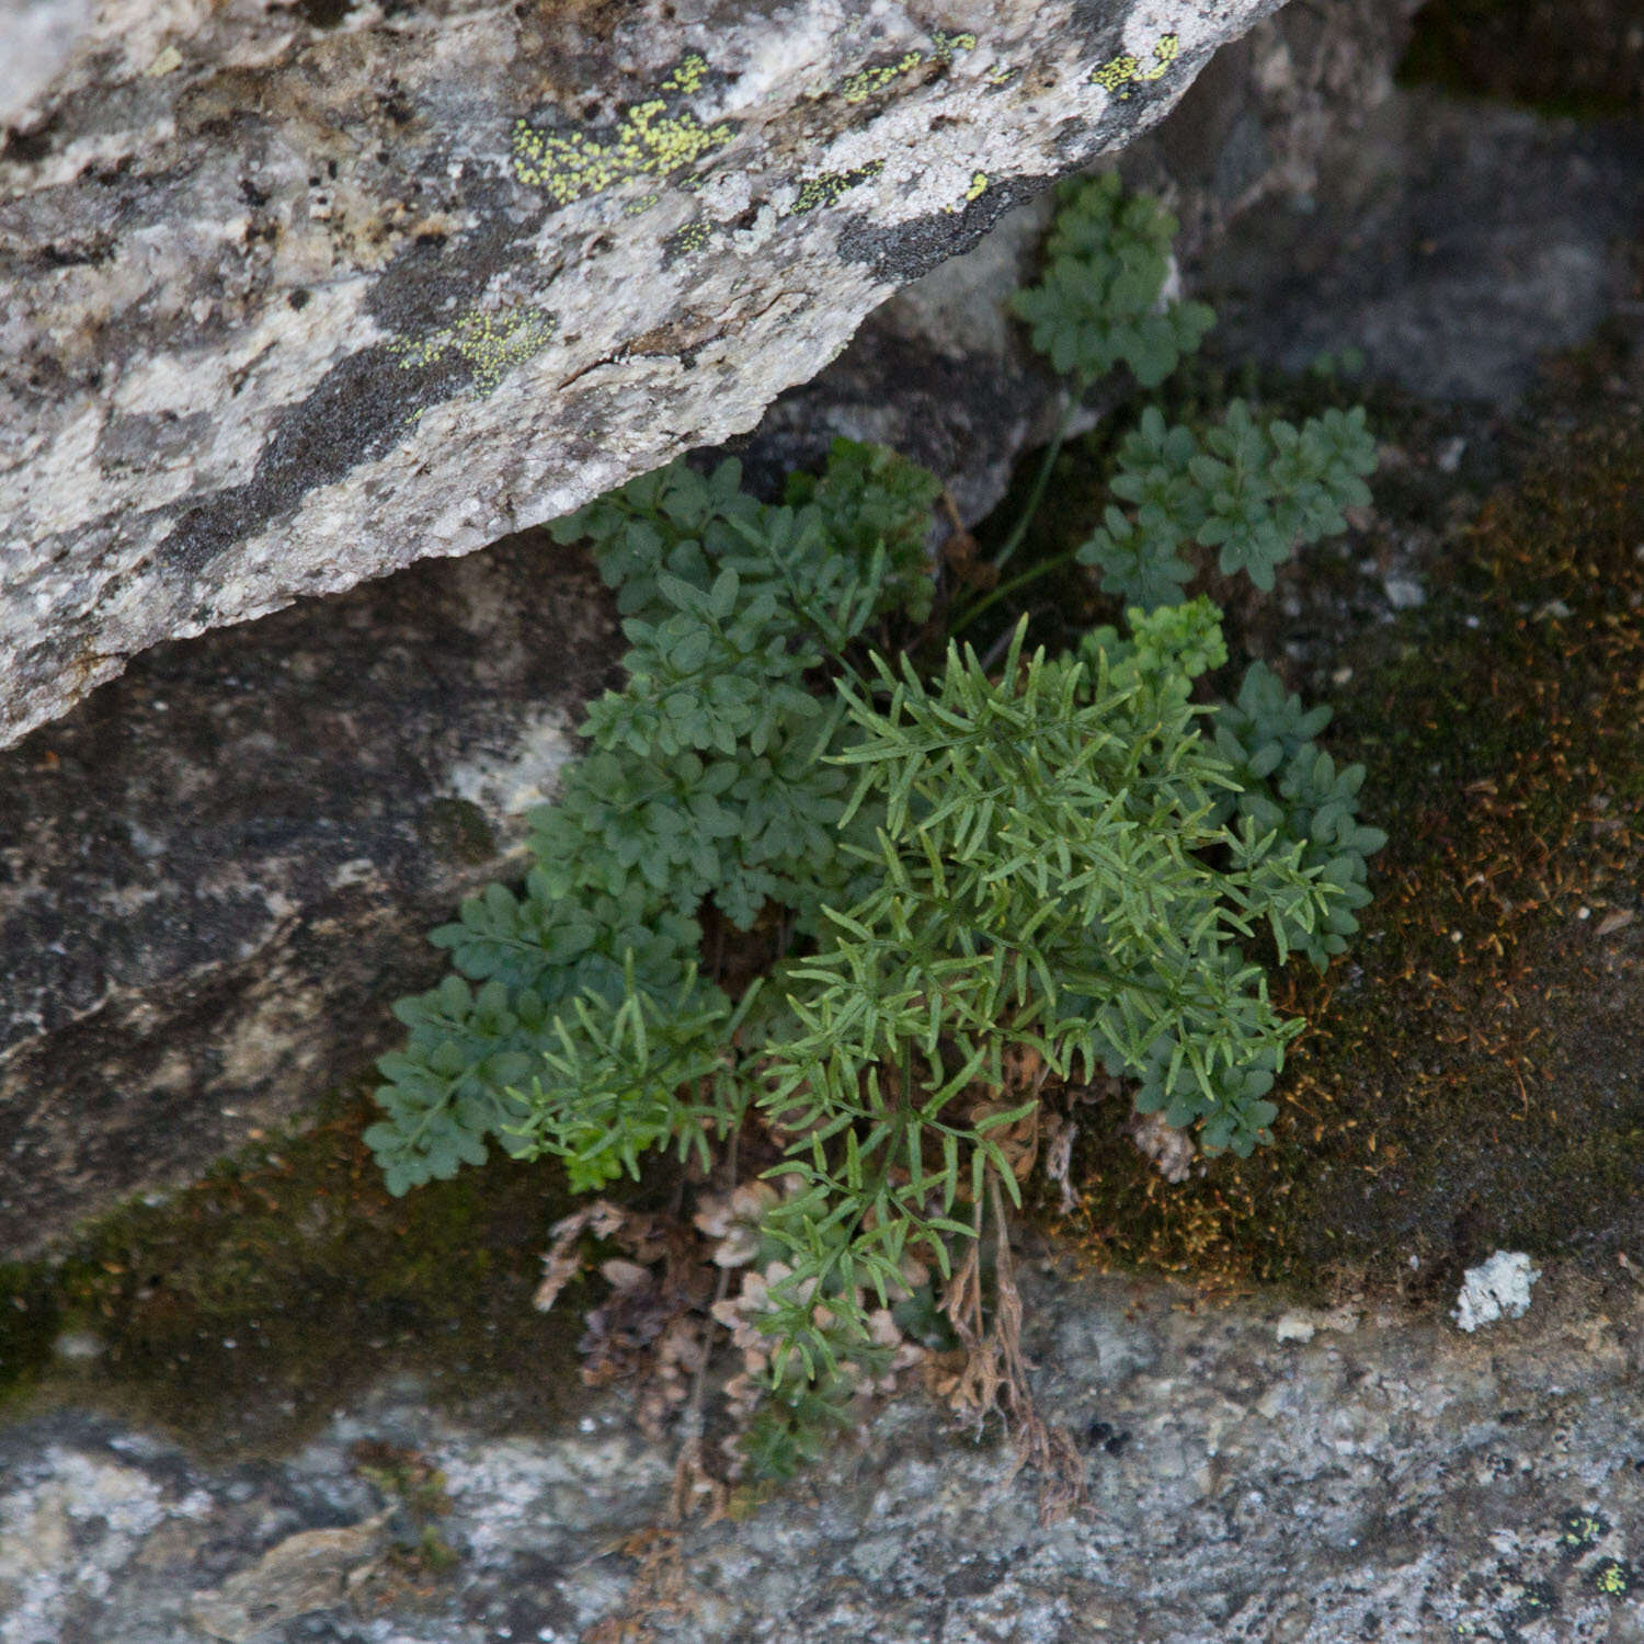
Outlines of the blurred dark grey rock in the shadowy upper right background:
[[1358,349],[1371,378],[1506,411],[1542,353],[1636,296],[1636,122],[1401,90],[1328,146],[1320,174],[1246,212],[1205,260],[1212,289],[1249,298],[1226,304],[1223,347],[1297,372]]

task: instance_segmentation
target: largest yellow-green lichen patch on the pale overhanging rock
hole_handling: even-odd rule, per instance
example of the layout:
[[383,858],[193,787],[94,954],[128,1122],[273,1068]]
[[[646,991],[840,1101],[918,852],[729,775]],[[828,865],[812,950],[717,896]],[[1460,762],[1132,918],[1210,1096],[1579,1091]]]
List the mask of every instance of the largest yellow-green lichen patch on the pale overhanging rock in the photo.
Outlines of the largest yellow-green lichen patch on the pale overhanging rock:
[[666,95],[623,110],[605,138],[584,127],[561,132],[518,120],[515,176],[543,189],[554,204],[570,206],[633,178],[669,178],[695,164],[737,135],[730,122],[704,125],[689,110],[669,107],[671,97],[697,90],[707,72],[707,61],[692,53],[663,81],[659,90]]

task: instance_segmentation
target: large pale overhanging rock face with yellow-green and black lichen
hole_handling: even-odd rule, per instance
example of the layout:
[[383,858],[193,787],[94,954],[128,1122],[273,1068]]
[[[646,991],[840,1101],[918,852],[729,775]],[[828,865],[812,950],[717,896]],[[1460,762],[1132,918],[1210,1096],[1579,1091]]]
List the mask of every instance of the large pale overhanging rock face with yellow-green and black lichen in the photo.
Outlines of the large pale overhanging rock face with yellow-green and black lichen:
[[102,7],[0,151],[0,743],[750,429],[1274,7]]

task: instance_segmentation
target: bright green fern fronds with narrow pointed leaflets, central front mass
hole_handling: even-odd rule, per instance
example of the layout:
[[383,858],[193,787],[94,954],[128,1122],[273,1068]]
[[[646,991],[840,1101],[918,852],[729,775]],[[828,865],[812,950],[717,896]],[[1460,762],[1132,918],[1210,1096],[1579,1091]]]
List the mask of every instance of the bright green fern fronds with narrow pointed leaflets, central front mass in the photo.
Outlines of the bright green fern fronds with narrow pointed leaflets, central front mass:
[[1220,654],[1212,608],[1134,615],[1136,641],[1039,653],[1019,686],[1021,628],[1003,684],[952,648],[935,687],[875,658],[884,709],[842,686],[863,732],[835,756],[861,773],[847,815],[884,812],[878,884],[779,978],[802,1031],[760,1098],[797,1138],[773,1172],[801,1190],[771,1221],[792,1269],[771,1328],[807,1371],[829,1361],[807,1325],[817,1291],[865,1328],[858,1286],[883,1304],[912,1248],[945,1272],[968,1231],[955,1198],[980,1198],[988,1169],[1014,1194],[991,1131],[1032,1103],[965,1118],[978,1080],[1003,1085],[1003,1046],[1060,1077],[1129,1074],[1208,1146],[1248,1152],[1272,1120],[1261,1097],[1300,1024],[1238,939],[1259,919],[1310,932],[1337,889],[1299,847],[1213,820],[1235,784],[1189,700]]

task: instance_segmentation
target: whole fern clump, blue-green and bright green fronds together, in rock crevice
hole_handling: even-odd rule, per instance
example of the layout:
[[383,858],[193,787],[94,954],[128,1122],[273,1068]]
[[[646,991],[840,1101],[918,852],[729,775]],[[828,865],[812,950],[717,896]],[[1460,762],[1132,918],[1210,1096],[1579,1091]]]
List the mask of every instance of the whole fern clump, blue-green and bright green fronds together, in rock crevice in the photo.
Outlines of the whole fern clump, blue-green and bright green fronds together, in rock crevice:
[[[1118,365],[1157,383],[1210,324],[1164,298],[1174,224],[1113,179],[1064,202],[1018,312],[1080,390]],[[1078,552],[1124,628],[1028,656],[1024,620],[998,672],[950,643],[931,679],[896,638],[932,610],[939,485],[891,452],[838,441],[779,506],[735,462],[676,464],[557,521],[616,590],[625,682],[531,817],[523,889],[465,901],[434,932],[455,975],[396,1006],[367,1133],[390,1189],[492,1143],[559,1159],[575,1190],[664,1149],[707,1169],[756,1115],[783,1192],[746,1448],[784,1475],[843,1422],[847,1366],[881,1366],[875,1309],[909,1302],[911,1261],[952,1279],[949,1322],[980,1342],[980,1300],[952,1297],[980,1295],[973,1241],[1018,1198],[1037,1110],[1006,1095],[1011,1047],[1131,1080],[1207,1151],[1269,1139],[1302,1024],[1268,967],[1343,950],[1383,835],[1358,820],[1361,768],[1317,745],[1327,710],[1259,663],[1203,700],[1228,656],[1220,612],[1182,598],[1185,551],[1269,587],[1343,528],[1371,464],[1361,411],[1149,409]],[[735,1000],[704,975],[709,907],[743,932],[779,914],[786,957]]]

